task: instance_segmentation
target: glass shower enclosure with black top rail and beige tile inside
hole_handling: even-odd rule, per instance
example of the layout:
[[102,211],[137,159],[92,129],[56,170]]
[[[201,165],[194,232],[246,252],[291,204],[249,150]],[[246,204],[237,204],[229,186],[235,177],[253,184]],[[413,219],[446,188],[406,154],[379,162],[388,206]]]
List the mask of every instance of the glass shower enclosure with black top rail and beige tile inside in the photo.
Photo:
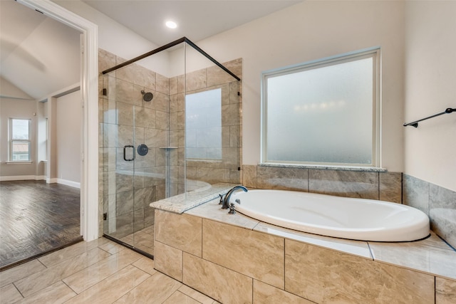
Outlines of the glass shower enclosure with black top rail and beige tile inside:
[[[187,38],[100,76],[103,233],[154,253],[150,203],[240,182],[242,60],[222,65]],[[100,206],[101,208],[101,206]]]

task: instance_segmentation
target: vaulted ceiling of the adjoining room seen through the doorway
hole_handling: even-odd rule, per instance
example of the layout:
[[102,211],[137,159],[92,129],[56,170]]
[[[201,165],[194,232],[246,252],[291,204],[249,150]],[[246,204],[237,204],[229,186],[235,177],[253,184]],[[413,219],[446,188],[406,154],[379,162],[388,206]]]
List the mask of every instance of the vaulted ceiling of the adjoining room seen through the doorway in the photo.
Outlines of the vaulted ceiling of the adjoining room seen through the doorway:
[[0,1],[1,97],[44,98],[80,80],[80,33],[13,0]]

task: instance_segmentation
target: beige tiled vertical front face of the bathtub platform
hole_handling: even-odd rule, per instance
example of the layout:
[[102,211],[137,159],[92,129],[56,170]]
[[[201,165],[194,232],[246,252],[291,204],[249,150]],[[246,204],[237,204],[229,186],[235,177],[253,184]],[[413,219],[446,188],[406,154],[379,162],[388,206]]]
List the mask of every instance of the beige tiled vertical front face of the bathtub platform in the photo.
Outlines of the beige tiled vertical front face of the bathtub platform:
[[[453,303],[456,298],[456,281],[450,279],[198,216],[157,214],[158,226],[177,223],[156,231],[162,242],[155,251],[157,270],[182,277],[182,283],[221,303]],[[200,237],[201,256],[187,252],[196,243],[186,248],[176,241],[192,236]]]

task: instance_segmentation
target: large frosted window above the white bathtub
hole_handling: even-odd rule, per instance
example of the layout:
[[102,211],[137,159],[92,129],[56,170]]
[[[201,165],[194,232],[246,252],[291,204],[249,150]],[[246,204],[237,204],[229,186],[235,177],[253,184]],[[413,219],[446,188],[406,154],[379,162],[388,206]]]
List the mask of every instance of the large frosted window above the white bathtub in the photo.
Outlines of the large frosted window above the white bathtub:
[[263,162],[377,166],[378,50],[264,73]]

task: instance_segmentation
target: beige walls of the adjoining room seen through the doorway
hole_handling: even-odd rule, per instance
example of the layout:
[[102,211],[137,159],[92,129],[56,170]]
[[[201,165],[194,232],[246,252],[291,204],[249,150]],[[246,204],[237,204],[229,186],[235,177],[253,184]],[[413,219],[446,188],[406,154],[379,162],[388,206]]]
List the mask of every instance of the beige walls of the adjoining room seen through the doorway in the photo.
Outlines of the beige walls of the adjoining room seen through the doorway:
[[[2,180],[45,179],[79,187],[81,179],[81,123],[82,108],[80,92],[76,91],[59,98],[48,98],[47,103],[36,100],[0,98],[1,142],[0,177]],[[55,113],[55,114],[53,114]],[[9,118],[31,119],[31,163],[6,164],[8,161]],[[45,134],[38,138],[38,127],[46,128],[49,117],[50,157],[46,157],[43,142]],[[40,120],[38,124],[38,120]],[[37,149],[39,147],[39,150]],[[43,160],[48,160],[44,164]],[[46,166],[48,168],[46,168]]]

